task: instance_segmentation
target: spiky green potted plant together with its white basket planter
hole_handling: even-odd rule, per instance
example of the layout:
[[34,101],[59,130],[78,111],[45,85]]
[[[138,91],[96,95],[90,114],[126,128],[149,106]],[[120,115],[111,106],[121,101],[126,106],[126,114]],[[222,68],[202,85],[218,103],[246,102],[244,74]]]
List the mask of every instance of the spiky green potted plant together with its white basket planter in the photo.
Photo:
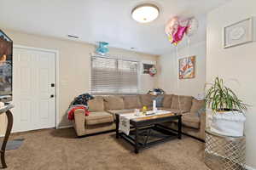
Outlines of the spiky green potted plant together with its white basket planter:
[[224,86],[223,79],[219,77],[208,85],[210,88],[207,88],[206,101],[212,112],[209,116],[211,131],[226,136],[243,136],[247,104],[238,99],[230,88]]

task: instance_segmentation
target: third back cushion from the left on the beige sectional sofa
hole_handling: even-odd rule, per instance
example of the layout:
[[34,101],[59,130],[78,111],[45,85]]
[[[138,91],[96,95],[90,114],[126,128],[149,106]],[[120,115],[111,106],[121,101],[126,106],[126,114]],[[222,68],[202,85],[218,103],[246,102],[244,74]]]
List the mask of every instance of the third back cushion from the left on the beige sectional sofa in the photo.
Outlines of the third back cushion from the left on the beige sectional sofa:
[[125,109],[139,109],[142,107],[139,95],[125,95],[123,96]]

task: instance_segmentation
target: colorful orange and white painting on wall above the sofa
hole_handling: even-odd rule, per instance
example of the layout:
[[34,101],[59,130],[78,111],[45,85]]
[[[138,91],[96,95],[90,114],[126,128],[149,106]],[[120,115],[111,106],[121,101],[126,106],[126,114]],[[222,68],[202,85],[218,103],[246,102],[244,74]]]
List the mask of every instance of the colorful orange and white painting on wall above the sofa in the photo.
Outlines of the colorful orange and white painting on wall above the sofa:
[[179,79],[195,78],[195,56],[178,60]]

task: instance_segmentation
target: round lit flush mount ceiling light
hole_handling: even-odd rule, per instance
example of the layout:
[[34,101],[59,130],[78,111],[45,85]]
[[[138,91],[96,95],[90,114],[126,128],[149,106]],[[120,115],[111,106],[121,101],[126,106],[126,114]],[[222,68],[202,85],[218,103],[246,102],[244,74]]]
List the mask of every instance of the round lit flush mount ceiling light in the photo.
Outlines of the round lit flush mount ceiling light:
[[148,23],[155,20],[160,13],[160,9],[151,3],[143,3],[131,10],[131,17],[140,23]]

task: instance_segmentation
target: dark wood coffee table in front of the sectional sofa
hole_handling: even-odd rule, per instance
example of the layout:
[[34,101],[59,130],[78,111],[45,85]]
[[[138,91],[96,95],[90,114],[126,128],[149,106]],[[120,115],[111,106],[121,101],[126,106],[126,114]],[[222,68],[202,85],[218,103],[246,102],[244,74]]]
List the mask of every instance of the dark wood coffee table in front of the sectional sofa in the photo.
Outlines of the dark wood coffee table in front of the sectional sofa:
[[[130,134],[119,132],[119,115],[116,114],[116,138],[122,137],[134,146],[135,153],[140,149],[147,148],[153,144],[159,144],[171,139],[182,139],[182,115],[168,113],[139,117],[130,120]],[[161,125],[160,123],[172,122],[177,120],[178,130]]]

